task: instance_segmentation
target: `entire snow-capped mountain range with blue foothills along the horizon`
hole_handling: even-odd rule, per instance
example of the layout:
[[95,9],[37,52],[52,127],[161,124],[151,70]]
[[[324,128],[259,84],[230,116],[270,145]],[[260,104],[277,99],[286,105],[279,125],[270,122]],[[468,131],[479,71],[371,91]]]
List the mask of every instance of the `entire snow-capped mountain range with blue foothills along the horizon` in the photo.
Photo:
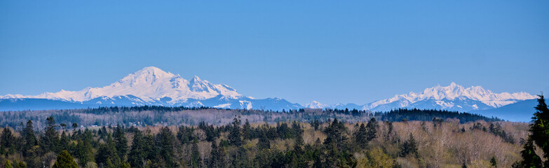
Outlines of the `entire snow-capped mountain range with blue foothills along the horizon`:
[[[524,116],[503,118],[528,121],[534,113],[531,102],[536,97],[527,92],[493,93],[480,86],[462,87],[456,83],[427,88],[423,92],[395,95],[369,104],[332,104],[311,102],[302,106],[280,98],[255,99],[239,94],[224,84],[212,84],[194,76],[186,80],[179,75],[162,71],[153,66],[131,73],[105,87],[86,87],[80,91],[44,92],[34,96],[7,94],[0,96],[0,111],[81,109],[97,106],[210,106],[226,109],[361,109],[390,111],[398,108],[446,109],[466,111],[503,118],[517,113]],[[518,102],[518,103],[517,103]],[[515,112],[513,112],[515,111]],[[503,115],[506,113],[506,115]],[[522,113],[522,114],[519,114]]]

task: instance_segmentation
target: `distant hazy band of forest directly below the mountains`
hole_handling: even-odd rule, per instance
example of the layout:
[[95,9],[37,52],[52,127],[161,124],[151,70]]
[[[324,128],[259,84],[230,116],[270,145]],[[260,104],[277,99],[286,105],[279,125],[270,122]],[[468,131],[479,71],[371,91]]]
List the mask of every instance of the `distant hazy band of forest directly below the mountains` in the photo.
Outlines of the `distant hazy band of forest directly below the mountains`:
[[370,118],[384,121],[419,120],[431,121],[433,118],[453,118],[460,123],[484,120],[501,121],[499,118],[488,118],[472,113],[457,111],[395,109],[387,112],[362,111],[357,109],[297,109],[289,111],[262,111],[253,109],[214,109],[208,107],[188,108],[169,106],[133,106],[101,107],[95,109],[62,109],[48,111],[4,111],[0,112],[0,125],[22,129],[22,123],[32,120],[35,127],[42,129],[45,118],[53,117],[57,123],[64,123],[72,128],[72,123],[81,127],[102,125],[141,126],[150,125],[198,125],[205,122],[212,125],[227,125],[233,122],[234,116],[250,123],[269,123],[299,121],[309,123],[313,120],[325,122],[337,118],[346,123],[367,122]]

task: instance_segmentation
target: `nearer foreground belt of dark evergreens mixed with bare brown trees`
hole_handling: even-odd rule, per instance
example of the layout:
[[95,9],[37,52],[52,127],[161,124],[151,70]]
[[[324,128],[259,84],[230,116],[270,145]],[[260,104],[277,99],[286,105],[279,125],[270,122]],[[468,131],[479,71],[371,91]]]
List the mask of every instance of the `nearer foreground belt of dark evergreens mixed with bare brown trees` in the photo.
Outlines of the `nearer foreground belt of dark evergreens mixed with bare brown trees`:
[[[477,129],[484,125],[494,127]],[[34,127],[32,120],[22,130],[5,127],[0,134],[0,161],[4,167],[510,166],[520,158],[505,153],[519,153],[515,149],[522,144],[505,141],[496,133],[522,131],[509,125],[514,123],[480,120],[461,124],[437,118],[400,122],[369,118],[363,123],[334,118],[268,124],[233,116],[226,125],[69,128],[48,117],[43,129]],[[494,146],[460,147],[461,141],[445,134],[465,137],[466,144],[480,136]],[[516,134],[508,134],[517,139]],[[447,144],[433,145],[442,140]]]

